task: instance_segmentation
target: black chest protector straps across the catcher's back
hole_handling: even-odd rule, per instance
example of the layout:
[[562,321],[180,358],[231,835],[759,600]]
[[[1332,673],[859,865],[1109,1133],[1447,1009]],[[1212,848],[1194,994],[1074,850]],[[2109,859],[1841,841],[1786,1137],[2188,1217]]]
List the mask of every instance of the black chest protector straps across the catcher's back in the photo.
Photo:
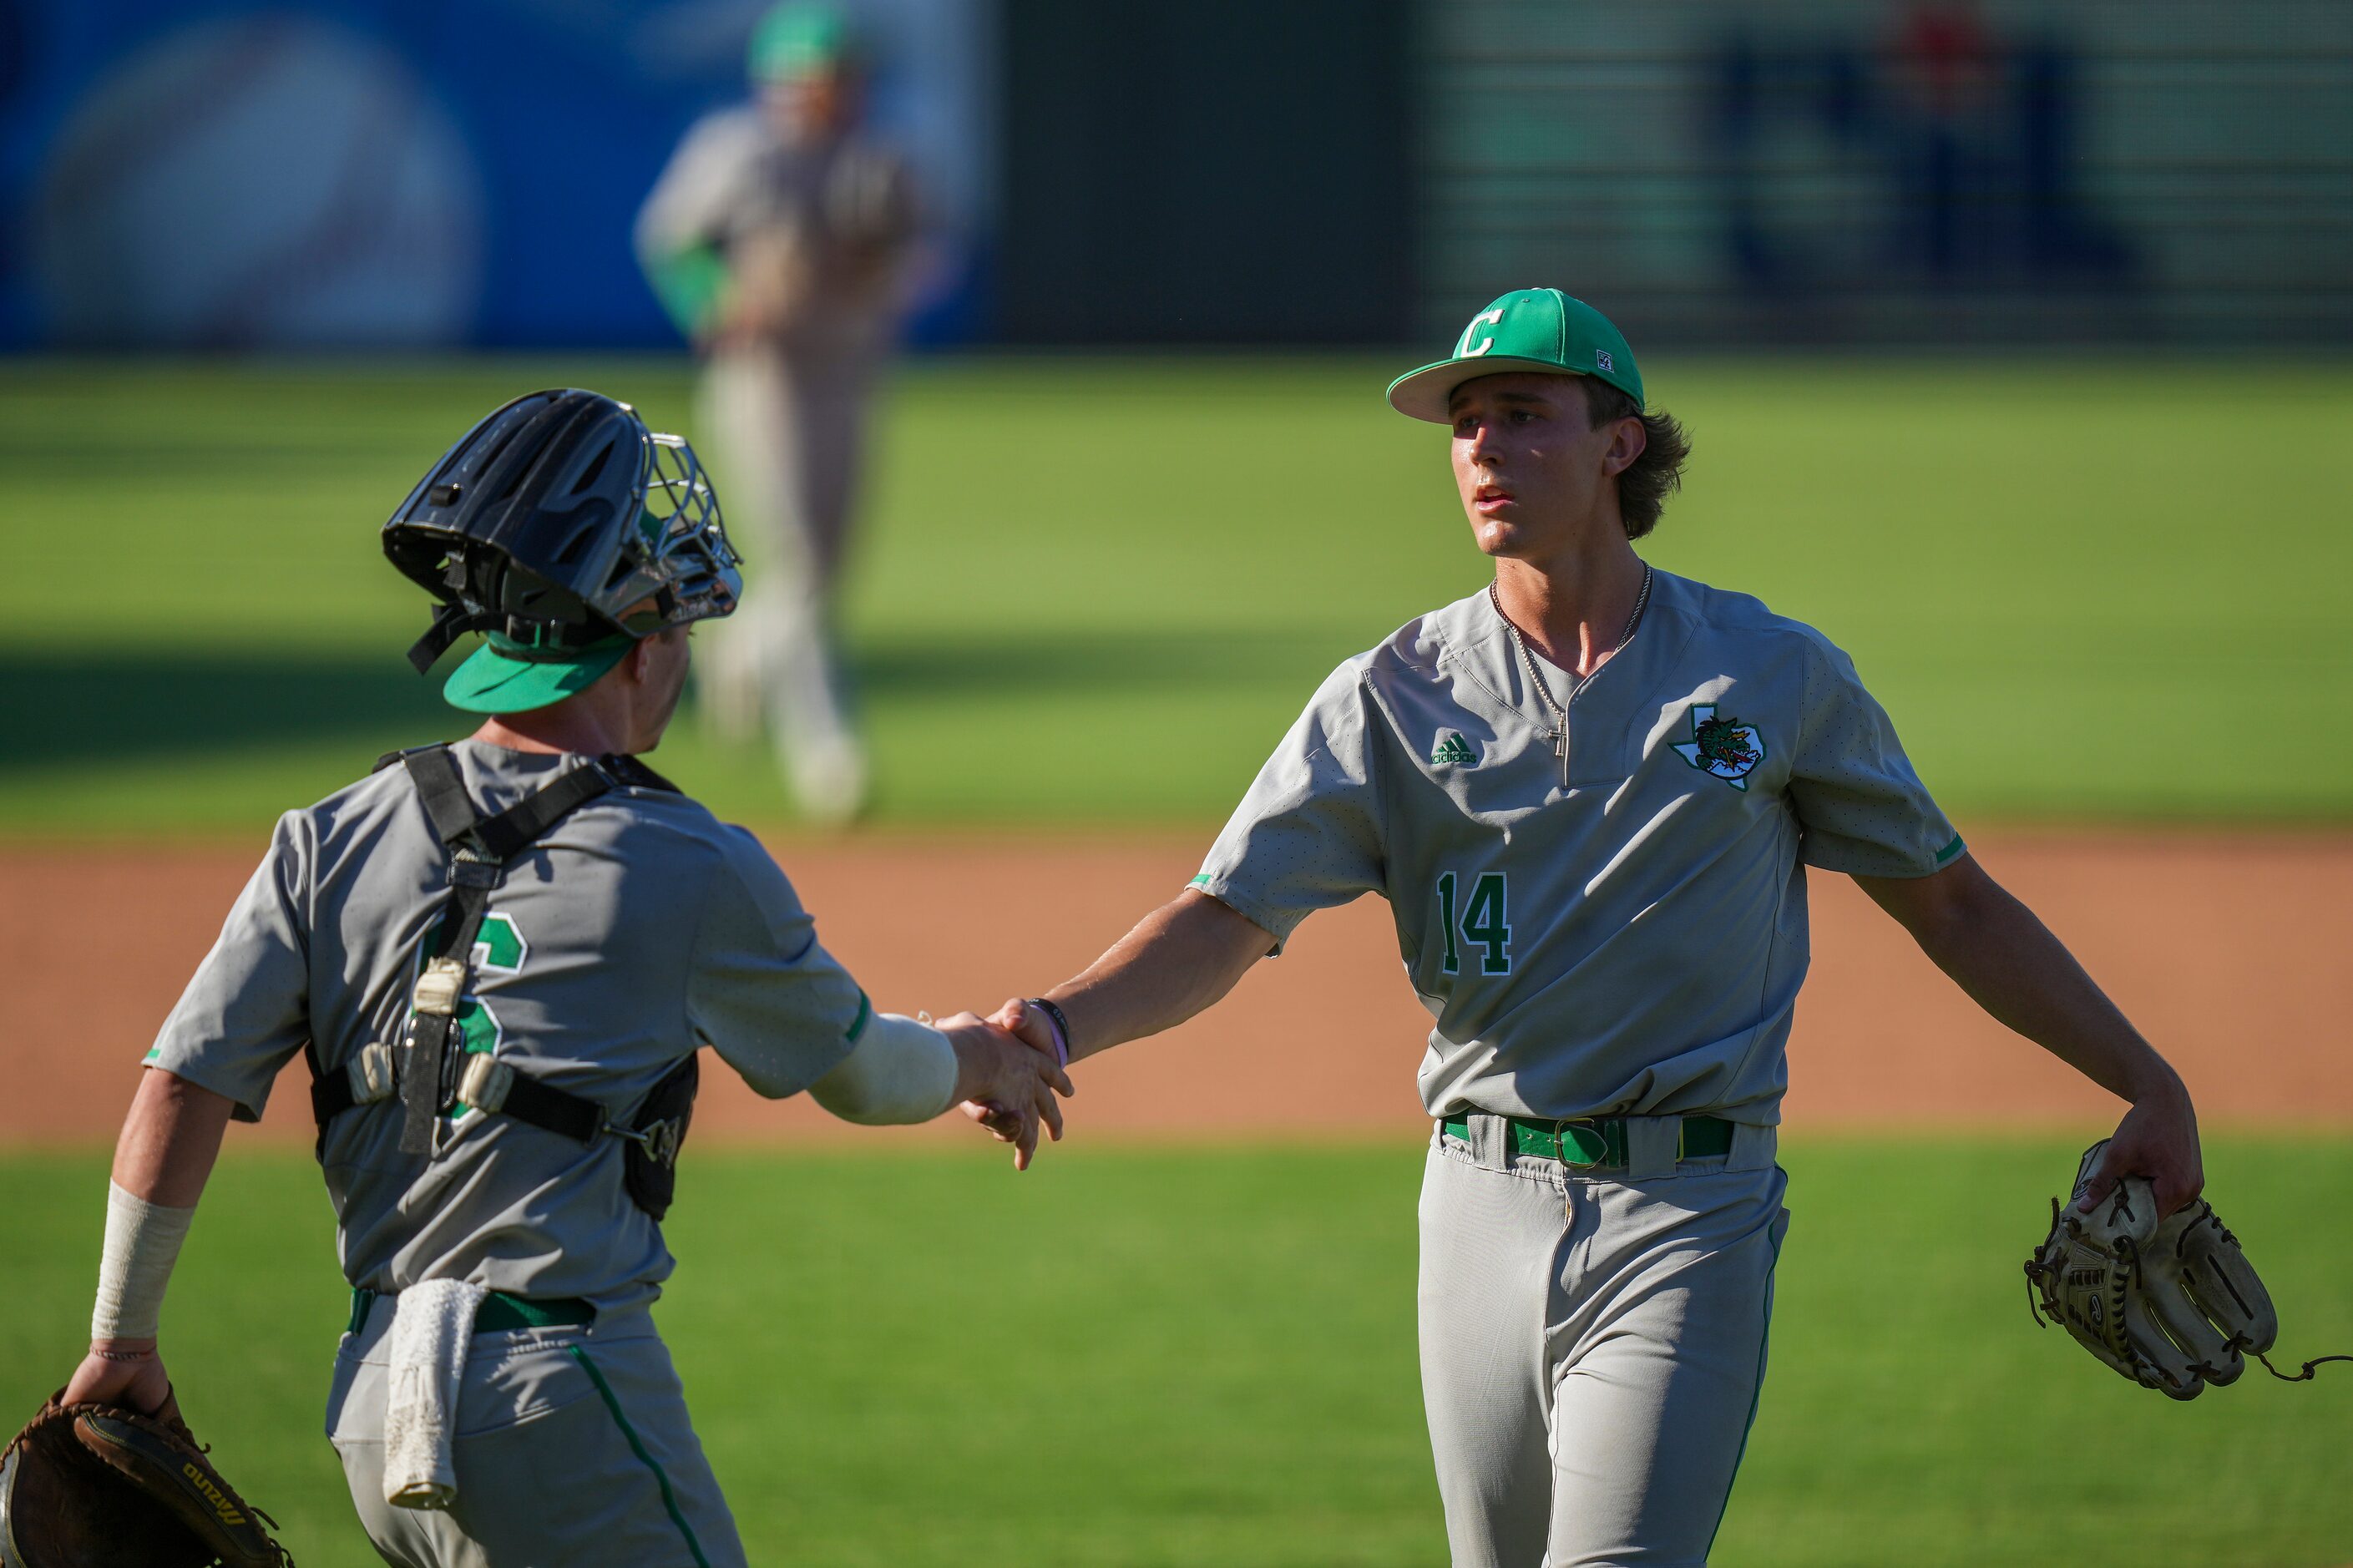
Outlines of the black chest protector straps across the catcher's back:
[[628,1196],[661,1220],[678,1191],[678,1151],[694,1116],[699,1052],[687,1052],[645,1095],[635,1116],[621,1123],[600,1099],[541,1083],[513,1062],[492,1059],[489,1052],[468,1052],[456,1012],[473,982],[473,939],[482,930],[482,916],[489,913],[492,895],[506,881],[508,864],[558,822],[612,789],[675,793],[678,786],[635,758],[600,756],[558,772],[504,812],[482,817],[466,796],[449,746],[395,751],[376,768],[393,763],[407,768],[449,855],[449,897],[426,939],[426,961],[400,1045],[365,1045],[339,1074],[320,1064],[318,1041],[304,1048],[320,1154],[327,1149],[329,1121],[344,1111],[398,1102],[400,1151],[431,1156],[440,1118],[464,1104],[485,1116],[513,1116],[581,1144],[595,1144],[600,1137],[624,1140]]

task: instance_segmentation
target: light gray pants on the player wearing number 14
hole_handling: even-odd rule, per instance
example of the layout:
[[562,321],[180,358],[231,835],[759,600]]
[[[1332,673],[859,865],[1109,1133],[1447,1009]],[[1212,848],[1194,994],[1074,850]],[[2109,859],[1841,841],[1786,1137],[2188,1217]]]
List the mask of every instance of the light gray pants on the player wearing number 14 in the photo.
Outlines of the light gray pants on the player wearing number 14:
[[1628,1165],[1438,1132],[1421,1184],[1421,1391],[1457,1568],[1706,1563],[1765,1380],[1788,1229],[1774,1130]]

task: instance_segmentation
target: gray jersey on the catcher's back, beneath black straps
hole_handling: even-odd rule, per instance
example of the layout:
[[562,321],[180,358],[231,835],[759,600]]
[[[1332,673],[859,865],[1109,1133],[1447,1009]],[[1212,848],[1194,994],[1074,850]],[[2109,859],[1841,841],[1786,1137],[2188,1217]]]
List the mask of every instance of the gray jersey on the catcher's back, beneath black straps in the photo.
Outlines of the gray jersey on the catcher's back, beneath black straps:
[[[485,812],[581,763],[480,742],[449,756]],[[402,768],[287,812],[148,1064],[256,1118],[304,1041],[329,1074],[398,1041],[445,866]],[[468,1050],[624,1121],[699,1045],[760,1095],[795,1095],[849,1055],[866,1015],[751,833],[682,796],[616,789],[508,866],[459,1024]],[[398,1099],[346,1111],[322,1151],[344,1274],[379,1293],[471,1278],[600,1309],[652,1300],[671,1255],[621,1187],[621,1151],[461,1109],[426,1161],[400,1154]]]

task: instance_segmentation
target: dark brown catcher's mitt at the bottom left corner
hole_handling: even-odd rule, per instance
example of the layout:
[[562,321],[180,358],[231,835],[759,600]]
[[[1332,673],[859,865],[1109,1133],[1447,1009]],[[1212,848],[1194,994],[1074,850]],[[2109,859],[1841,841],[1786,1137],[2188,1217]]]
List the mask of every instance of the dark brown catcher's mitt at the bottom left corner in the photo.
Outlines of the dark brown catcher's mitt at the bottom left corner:
[[0,1568],[294,1568],[167,1401],[49,1398],[0,1457]]

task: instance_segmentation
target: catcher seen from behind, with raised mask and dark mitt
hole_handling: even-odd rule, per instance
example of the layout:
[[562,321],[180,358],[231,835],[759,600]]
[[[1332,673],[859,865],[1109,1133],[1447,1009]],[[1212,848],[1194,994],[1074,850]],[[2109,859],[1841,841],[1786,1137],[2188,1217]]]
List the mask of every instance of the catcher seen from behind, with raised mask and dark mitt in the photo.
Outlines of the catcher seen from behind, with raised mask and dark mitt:
[[[649,1316],[704,1045],[845,1121],[965,1104],[1016,1163],[1059,1135],[1052,1057],[875,1012],[758,841],[638,760],[687,626],[736,603],[682,440],[598,393],[518,398],[384,549],[440,600],[419,671],[487,631],[442,692],[487,718],[287,812],[165,1019],[89,1358],[9,1448],[9,1566],[278,1561],[179,1424],[155,1335],[221,1132],[296,1055],[353,1285],[327,1434],[407,1568],[744,1563]],[[132,1519],[153,1549],[125,1552]]]

